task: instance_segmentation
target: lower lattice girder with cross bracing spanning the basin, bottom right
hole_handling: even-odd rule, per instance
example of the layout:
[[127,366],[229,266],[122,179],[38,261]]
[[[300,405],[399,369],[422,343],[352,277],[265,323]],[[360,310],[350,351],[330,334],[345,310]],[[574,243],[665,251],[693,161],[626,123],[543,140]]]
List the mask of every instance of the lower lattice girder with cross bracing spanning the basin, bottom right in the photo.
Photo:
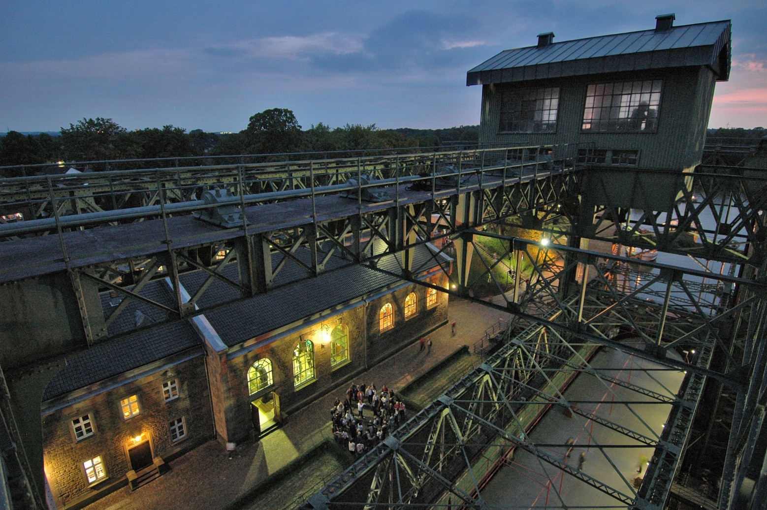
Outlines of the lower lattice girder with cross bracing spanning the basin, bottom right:
[[[553,316],[550,317],[554,319]],[[588,498],[580,500],[558,496],[559,504],[548,500],[548,508],[662,508],[655,493],[644,498],[631,480],[621,474],[617,458],[624,449],[651,446],[653,457],[652,485],[667,490],[676,469],[679,452],[686,439],[691,420],[676,420],[673,427],[660,429],[658,424],[644,423],[641,406],[662,406],[674,419],[676,414],[691,416],[694,411],[701,377],[680,370],[646,364],[632,367],[645,375],[635,388],[617,384],[625,379],[625,365],[597,367],[591,363],[596,344],[569,340],[558,334],[545,334],[545,327],[534,324],[506,344],[445,396],[426,410],[413,416],[393,436],[360,459],[344,475],[311,498],[304,508],[543,508],[529,502],[489,502],[483,489],[489,482],[488,469],[511,463],[512,457],[528,454],[550,487],[557,487],[555,472],[578,480],[586,489],[586,497],[600,493],[607,503],[594,505]],[[542,334],[545,341],[542,341]],[[630,360],[632,363],[647,363]],[[627,362],[627,361],[626,361]],[[624,363],[626,363],[624,362]],[[617,373],[617,377],[615,374]],[[605,400],[571,398],[565,390],[581,374],[604,390],[605,396],[617,396],[616,405],[633,416],[632,426],[611,419]],[[660,375],[676,374],[676,383],[668,384]],[[681,387],[680,387],[681,381]],[[623,393],[623,392],[626,393]],[[630,397],[627,397],[630,395]],[[609,401],[609,400],[608,400]],[[576,469],[564,455],[565,437],[535,439],[534,426],[551,408],[569,410],[583,434],[578,443],[587,443],[601,461],[612,466],[614,476],[603,477]],[[595,432],[594,429],[597,428]],[[624,439],[602,441],[598,429],[608,429]],[[595,455],[592,453],[591,455]],[[402,473],[407,473],[403,476]],[[646,484],[647,486],[647,484]],[[581,489],[583,491],[584,489]],[[646,490],[646,489],[645,489]],[[513,494],[514,492],[510,492]],[[591,502],[589,502],[591,501]],[[612,501],[612,503],[610,503]],[[603,506],[604,505],[604,506]]]

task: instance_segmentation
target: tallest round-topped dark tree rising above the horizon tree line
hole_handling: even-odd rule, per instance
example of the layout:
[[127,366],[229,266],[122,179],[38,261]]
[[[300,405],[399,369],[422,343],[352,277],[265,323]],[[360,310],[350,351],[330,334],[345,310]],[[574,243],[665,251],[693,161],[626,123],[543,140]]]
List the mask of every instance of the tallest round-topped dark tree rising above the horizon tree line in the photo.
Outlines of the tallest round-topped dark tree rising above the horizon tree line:
[[250,117],[245,144],[251,153],[293,153],[301,148],[301,126],[286,108],[264,110]]

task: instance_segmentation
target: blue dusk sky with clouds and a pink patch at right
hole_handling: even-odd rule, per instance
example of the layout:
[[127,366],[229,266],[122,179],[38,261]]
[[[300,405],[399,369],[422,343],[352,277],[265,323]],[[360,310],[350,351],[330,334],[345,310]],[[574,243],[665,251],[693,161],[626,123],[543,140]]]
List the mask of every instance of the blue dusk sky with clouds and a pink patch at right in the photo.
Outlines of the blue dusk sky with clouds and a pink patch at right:
[[0,131],[83,117],[129,130],[239,131],[268,108],[325,123],[479,123],[466,71],[509,48],[732,20],[709,127],[767,126],[767,2],[0,0]]

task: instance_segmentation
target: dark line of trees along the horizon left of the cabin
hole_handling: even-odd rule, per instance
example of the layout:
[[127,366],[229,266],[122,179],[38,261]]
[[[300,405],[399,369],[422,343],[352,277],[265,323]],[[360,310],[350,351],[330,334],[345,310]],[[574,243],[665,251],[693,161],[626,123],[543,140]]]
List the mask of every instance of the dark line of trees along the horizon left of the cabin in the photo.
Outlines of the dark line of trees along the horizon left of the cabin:
[[[202,130],[187,133],[183,127],[172,125],[129,131],[112,119],[96,117],[62,127],[60,137],[9,131],[0,138],[0,166],[434,147],[453,140],[476,142],[479,126],[381,130],[375,124],[347,123],[344,127],[331,128],[318,123],[303,130],[291,110],[272,108],[252,115],[248,126],[239,133]],[[94,165],[93,169],[100,166]],[[16,175],[21,175],[21,171],[5,172],[5,176]]]

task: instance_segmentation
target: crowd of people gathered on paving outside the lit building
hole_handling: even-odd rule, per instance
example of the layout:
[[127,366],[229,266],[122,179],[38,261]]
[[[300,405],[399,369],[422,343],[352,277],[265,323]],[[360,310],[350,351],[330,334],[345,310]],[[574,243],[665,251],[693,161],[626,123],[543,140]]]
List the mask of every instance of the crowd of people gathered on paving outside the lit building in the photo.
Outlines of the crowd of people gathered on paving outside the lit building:
[[376,446],[405,420],[405,403],[384,384],[353,383],[344,400],[331,407],[331,423],[337,443],[356,456]]

